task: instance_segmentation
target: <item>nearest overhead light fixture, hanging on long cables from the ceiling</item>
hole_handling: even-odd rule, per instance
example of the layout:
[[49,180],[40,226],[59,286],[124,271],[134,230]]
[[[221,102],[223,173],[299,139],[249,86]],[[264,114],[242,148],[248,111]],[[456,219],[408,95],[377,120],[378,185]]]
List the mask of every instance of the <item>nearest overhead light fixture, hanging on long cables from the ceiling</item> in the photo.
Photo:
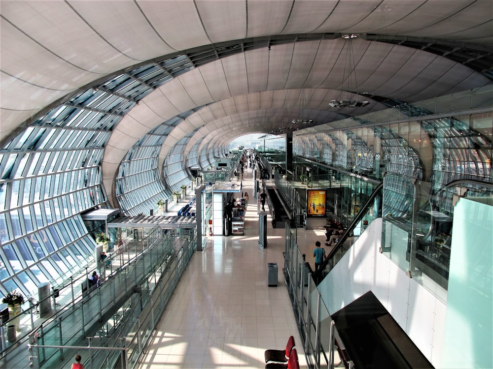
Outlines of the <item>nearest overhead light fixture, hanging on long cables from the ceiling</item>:
[[[370,102],[369,101],[359,101],[359,93],[358,93],[358,81],[356,80],[356,64],[354,63],[354,53],[352,51],[352,39],[356,38],[357,35],[354,33],[351,34],[343,34],[341,36],[342,38],[345,39],[344,46],[347,46],[346,49],[346,62],[344,64],[344,72],[342,75],[342,83],[341,83],[341,92],[339,93],[339,98],[337,100],[330,100],[329,106],[333,108],[359,108],[361,106],[366,106]],[[344,47],[343,46],[343,47]],[[346,74],[346,69],[348,69],[348,73]],[[354,76],[354,85],[356,87],[356,99],[352,100],[350,99],[350,93],[351,92],[351,82],[352,82],[352,77]],[[343,93],[344,93],[344,82],[348,81],[347,85],[347,99],[343,99]]]

